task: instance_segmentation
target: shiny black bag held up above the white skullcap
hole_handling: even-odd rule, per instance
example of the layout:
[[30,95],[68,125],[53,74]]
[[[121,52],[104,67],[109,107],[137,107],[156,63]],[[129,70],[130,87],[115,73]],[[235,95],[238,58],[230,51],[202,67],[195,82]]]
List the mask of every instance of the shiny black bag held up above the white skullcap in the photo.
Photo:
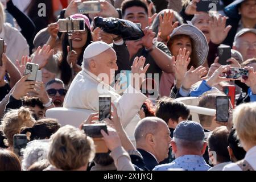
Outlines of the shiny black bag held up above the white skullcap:
[[141,28],[129,20],[98,16],[94,19],[94,23],[96,27],[100,27],[109,34],[121,36],[123,40],[138,40],[144,36]]

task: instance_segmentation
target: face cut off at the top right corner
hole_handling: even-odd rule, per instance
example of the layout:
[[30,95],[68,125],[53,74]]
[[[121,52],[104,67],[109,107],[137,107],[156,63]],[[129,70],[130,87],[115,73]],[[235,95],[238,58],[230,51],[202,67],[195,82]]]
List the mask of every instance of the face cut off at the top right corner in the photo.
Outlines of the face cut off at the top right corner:
[[242,3],[239,9],[242,18],[255,19],[256,18],[256,0],[247,0]]

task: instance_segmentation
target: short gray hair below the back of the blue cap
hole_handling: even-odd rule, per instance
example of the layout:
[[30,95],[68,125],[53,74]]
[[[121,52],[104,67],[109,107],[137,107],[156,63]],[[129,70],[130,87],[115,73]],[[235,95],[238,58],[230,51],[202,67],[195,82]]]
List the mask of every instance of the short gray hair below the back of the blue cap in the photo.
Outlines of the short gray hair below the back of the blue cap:
[[204,146],[204,139],[203,140],[196,140],[196,141],[189,141],[184,139],[179,139],[173,137],[172,140],[176,143],[178,150],[182,150],[184,148],[188,150],[195,150],[201,151]]

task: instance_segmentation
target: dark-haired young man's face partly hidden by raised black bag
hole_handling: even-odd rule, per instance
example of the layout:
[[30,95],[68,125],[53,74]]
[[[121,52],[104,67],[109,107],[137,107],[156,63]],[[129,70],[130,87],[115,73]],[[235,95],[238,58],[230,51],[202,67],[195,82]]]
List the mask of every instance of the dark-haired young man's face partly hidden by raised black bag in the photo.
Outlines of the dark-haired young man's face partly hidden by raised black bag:
[[133,6],[125,10],[123,19],[130,20],[133,23],[141,23],[141,28],[144,29],[148,26],[148,15],[143,7]]

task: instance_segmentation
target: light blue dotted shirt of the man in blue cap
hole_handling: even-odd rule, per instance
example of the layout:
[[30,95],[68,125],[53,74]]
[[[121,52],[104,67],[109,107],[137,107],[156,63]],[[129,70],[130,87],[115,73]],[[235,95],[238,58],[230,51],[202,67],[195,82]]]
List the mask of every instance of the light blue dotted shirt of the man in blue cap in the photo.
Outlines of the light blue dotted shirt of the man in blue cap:
[[207,171],[210,169],[210,166],[205,162],[203,156],[183,155],[170,164],[156,166],[153,171],[168,171],[173,168],[185,171]]

